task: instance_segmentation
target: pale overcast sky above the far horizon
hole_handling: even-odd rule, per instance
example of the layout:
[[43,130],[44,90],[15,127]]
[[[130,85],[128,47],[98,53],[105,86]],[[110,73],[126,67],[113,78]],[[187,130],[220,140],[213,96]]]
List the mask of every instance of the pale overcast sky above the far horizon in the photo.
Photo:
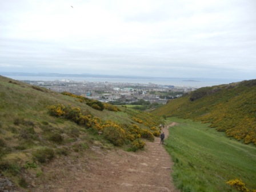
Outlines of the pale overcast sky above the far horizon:
[[0,0],[1,71],[255,79],[256,1]]

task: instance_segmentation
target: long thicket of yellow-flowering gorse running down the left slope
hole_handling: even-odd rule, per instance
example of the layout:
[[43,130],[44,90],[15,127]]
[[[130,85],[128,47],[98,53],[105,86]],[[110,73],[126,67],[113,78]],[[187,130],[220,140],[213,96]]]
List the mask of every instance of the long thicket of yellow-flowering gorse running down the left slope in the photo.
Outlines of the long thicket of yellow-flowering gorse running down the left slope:
[[[91,114],[82,114],[78,107],[71,107],[70,105],[51,105],[47,109],[49,110],[49,114],[54,117],[69,119],[78,125],[85,126],[85,128],[92,128],[97,133],[98,131],[102,131],[103,136],[114,145],[122,146],[124,143],[130,143],[131,150],[133,151],[143,149],[145,146],[145,142],[141,141],[141,138],[153,141],[154,135],[158,136],[160,134],[155,126],[151,126],[148,130],[142,129],[135,124],[123,125],[111,120],[102,122],[100,118],[93,117]],[[142,120],[138,119],[137,121],[142,122]]]

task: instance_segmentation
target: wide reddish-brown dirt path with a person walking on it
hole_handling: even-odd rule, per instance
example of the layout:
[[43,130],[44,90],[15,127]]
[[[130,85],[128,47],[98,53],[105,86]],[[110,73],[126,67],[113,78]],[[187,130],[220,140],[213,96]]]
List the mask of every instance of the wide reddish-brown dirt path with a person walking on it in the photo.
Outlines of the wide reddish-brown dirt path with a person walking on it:
[[[167,138],[169,131],[163,131]],[[146,149],[137,153],[122,150],[102,152],[98,146],[91,149],[94,155],[89,158],[67,157],[66,161],[51,162],[43,170],[48,181],[35,182],[30,191],[178,191],[171,183],[173,163],[160,144],[160,138],[147,142]]]

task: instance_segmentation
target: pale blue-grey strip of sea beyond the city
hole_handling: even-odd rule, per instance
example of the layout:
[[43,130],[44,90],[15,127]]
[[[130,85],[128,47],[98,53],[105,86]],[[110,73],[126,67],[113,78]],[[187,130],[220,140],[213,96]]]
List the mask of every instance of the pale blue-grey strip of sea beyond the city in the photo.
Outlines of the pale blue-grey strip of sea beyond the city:
[[124,78],[113,78],[113,77],[61,77],[58,75],[44,76],[44,75],[8,75],[3,74],[5,77],[9,77],[18,81],[82,81],[82,82],[113,82],[113,83],[154,83],[157,85],[173,85],[179,87],[206,87],[214,85],[229,84],[233,82],[240,82],[244,79],[220,79],[220,78],[147,78],[147,77],[124,77]]

